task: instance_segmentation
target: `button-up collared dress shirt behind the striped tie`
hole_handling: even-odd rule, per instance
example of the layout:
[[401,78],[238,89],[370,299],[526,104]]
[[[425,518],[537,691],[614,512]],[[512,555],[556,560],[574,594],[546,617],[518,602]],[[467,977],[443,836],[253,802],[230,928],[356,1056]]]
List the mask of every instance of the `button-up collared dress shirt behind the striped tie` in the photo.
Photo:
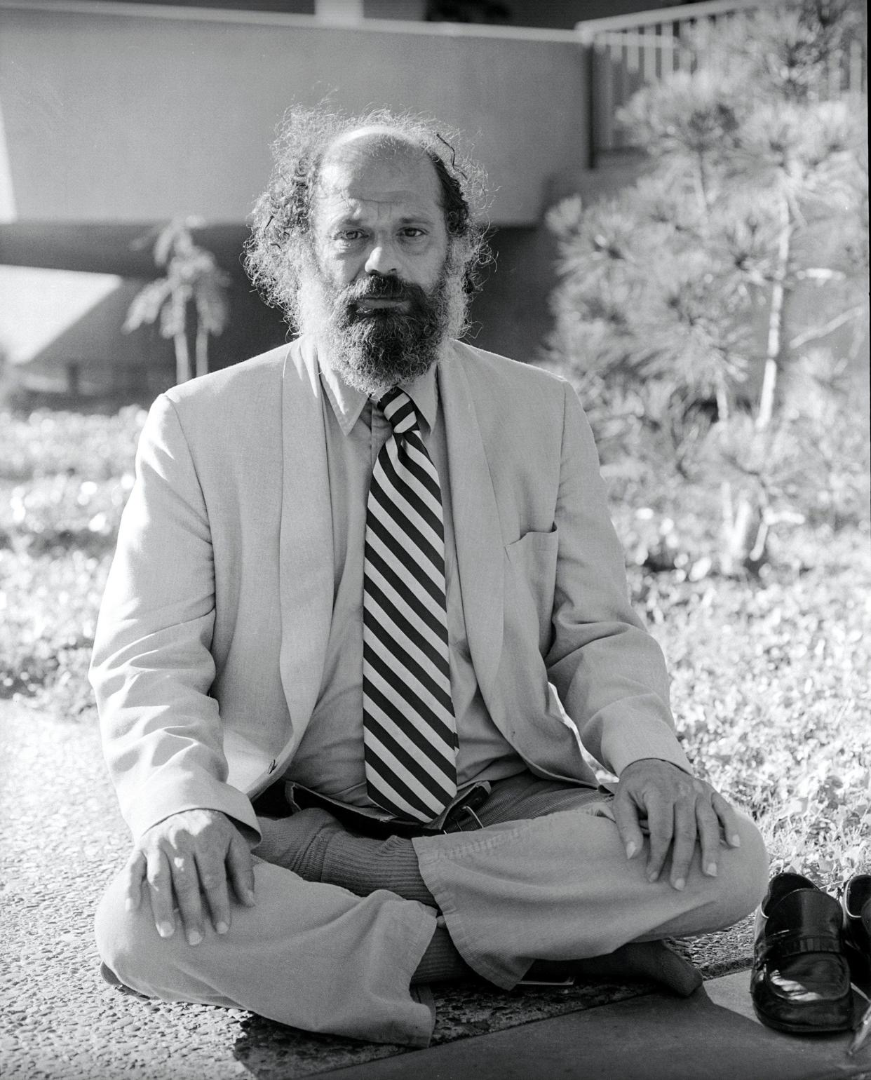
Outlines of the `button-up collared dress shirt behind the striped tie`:
[[[451,693],[461,788],[474,781],[515,775],[526,766],[491,719],[469,653],[437,369],[434,365],[419,379],[402,383],[402,389],[414,402],[442,489]],[[363,548],[372,471],[391,429],[365,394],[325,365],[321,384],[333,514],[333,620],[318,702],[285,779],[348,806],[372,807],[363,762]]]

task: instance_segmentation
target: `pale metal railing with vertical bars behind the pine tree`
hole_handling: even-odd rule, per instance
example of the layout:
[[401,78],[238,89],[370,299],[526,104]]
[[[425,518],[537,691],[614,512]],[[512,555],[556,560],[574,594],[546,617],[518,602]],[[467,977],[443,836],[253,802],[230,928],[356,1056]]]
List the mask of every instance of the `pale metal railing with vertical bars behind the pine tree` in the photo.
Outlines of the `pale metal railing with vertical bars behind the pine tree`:
[[[660,8],[633,15],[587,19],[575,32],[589,50],[590,147],[597,156],[633,149],[621,131],[617,113],[645,83],[659,82],[678,71],[693,71],[700,57],[688,43],[698,29],[749,22],[766,0],[708,0],[679,8]],[[865,46],[853,40],[844,54],[833,56],[828,95],[832,98],[866,89]]]

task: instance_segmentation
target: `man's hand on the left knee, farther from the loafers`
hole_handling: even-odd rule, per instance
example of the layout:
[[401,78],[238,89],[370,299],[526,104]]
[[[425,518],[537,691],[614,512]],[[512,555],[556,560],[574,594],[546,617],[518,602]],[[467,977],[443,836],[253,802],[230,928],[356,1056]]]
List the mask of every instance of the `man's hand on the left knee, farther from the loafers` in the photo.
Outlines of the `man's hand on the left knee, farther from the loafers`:
[[142,835],[126,865],[126,907],[142,903],[148,882],[161,937],[175,931],[178,907],[189,945],[203,937],[203,896],[219,934],[230,929],[229,882],[246,907],[254,904],[254,865],[242,834],[218,810],[183,810]]

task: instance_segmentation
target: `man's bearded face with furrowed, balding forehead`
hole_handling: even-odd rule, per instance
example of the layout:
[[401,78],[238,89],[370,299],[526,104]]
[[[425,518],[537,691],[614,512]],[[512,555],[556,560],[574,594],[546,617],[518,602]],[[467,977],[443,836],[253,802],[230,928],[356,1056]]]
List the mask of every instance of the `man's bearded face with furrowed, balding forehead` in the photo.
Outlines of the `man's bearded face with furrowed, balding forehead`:
[[350,384],[377,396],[424,374],[457,322],[439,180],[416,147],[358,133],[334,147],[313,205],[316,267],[302,329]]

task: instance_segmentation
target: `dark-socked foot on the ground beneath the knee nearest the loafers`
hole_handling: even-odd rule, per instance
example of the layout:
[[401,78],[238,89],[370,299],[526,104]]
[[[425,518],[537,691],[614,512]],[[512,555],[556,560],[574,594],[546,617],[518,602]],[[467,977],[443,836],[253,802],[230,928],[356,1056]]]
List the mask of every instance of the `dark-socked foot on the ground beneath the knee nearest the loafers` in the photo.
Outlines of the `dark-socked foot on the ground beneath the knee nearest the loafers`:
[[584,960],[536,960],[527,978],[561,978],[574,974],[590,980],[647,980],[682,998],[701,986],[698,970],[664,942],[630,942],[613,953]]

